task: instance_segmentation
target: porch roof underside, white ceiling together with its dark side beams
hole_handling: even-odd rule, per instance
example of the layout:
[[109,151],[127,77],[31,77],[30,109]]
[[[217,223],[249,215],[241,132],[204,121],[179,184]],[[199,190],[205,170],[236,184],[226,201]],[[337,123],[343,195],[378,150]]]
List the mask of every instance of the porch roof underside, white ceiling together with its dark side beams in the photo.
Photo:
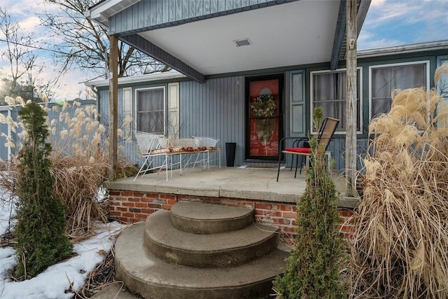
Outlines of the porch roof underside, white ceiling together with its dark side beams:
[[[122,32],[114,26],[112,33],[200,82],[206,76],[241,71],[327,62],[330,68],[330,61],[335,69],[344,59],[345,1],[270,1],[257,9]],[[113,15],[133,4],[137,7],[138,2],[104,0],[86,16],[109,26]],[[358,0],[358,6],[362,3],[365,9],[360,10],[361,18],[358,15],[361,23],[370,0]],[[248,45],[238,46],[238,41]]]

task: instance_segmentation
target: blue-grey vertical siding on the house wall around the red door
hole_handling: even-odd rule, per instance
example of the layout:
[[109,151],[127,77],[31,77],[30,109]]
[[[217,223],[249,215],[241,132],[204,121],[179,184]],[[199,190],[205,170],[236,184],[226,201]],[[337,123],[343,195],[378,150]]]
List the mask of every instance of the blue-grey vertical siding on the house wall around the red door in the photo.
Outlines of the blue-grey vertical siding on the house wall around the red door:
[[[285,82],[289,81],[290,72],[286,72]],[[237,144],[235,155],[235,166],[240,165],[270,165],[276,166],[277,162],[247,162],[245,160],[245,99],[244,99],[244,76],[232,76],[225,78],[214,78],[201,84],[196,81],[182,81],[179,83],[179,136],[188,138],[191,136],[215,137],[220,139],[218,146],[221,147],[221,162],[225,165],[225,143],[235,142]],[[164,83],[139,85],[138,88],[163,86]],[[284,114],[285,135],[289,134],[288,111],[289,111],[289,84],[284,91],[285,103]],[[136,88],[136,86],[134,86]],[[120,127],[120,115],[123,115],[122,105],[123,88],[118,89],[118,126]],[[133,91],[134,97],[134,91]],[[99,90],[99,111],[106,116],[109,113],[109,91]],[[102,118],[102,123],[108,127],[108,118]],[[358,141],[362,143],[362,141]],[[288,141],[286,146],[291,146]],[[127,157],[132,163],[141,165],[144,162],[138,155],[139,148],[135,140],[127,141],[118,137],[118,146],[123,146],[119,155]],[[335,159],[335,168],[344,167],[345,139],[336,137],[328,146],[328,151]],[[362,146],[359,147],[360,152]],[[212,159],[218,158],[218,153],[212,154]],[[286,165],[290,165],[291,156],[285,155]],[[217,165],[215,161],[212,163]],[[282,163],[282,165],[285,165]]]

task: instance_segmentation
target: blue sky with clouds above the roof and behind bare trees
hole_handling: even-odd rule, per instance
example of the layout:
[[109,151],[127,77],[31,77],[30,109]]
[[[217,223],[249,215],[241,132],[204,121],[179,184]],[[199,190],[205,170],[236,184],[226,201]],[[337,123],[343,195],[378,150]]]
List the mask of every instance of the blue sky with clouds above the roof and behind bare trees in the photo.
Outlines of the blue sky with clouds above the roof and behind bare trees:
[[[38,26],[36,13],[43,11],[43,8],[52,10],[54,7],[44,5],[42,0],[2,0],[0,7],[20,22],[24,32],[32,33],[38,41],[48,39],[46,29]],[[358,50],[365,50],[447,39],[448,0],[372,0],[357,47]],[[57,40],[51,42],[57,43]],[[0,41],[0,50],[4,46],[5,43]],[[57,76],[57,67],[50,51],[40,51],[38,63],[45,66],[41,78]],[[3,67],[2,71],[7,70],[7,65],[1,61],[0,67]],[[73,69],[62,78],[56,99],[84,99],[86,88],[83,82],[90,78],[91,74]]]

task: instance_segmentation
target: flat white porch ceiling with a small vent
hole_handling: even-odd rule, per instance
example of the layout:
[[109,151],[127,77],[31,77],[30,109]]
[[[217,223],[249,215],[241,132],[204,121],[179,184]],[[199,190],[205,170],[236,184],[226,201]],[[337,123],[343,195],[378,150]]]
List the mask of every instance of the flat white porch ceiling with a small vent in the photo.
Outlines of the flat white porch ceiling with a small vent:
[[303,0],[140,35],[204,75],[330,62],[338,12],[339,1]]

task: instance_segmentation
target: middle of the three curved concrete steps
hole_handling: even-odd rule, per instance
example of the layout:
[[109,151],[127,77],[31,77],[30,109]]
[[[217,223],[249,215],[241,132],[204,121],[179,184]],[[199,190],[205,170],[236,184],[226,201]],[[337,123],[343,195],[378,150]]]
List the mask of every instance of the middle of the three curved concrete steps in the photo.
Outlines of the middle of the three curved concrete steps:
[[233,267],[260,258],[279,244],[278,228],[253,223],[234,232],[197,235],[174,228],[171,212],[146,218],[144,245],[158,258],[190,267]]

